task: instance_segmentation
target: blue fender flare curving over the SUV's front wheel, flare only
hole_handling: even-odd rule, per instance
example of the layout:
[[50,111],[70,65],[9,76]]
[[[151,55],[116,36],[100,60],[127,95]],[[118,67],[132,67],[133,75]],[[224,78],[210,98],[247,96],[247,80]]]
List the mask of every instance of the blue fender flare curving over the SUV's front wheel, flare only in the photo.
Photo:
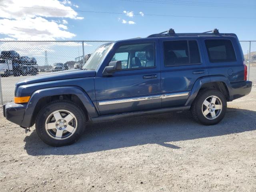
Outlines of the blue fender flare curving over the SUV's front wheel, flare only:
[[32,96],[30,97],[30,100],[28,102],[28,105],[26,107],[24,118],[22,120],[22,126],[24,127],[31,127],[32,126],[32,116],[36,107],[36,104],[41,98],[47,97],[47,96],[55,96],[55,95],[64,95],[64,94],[74,94],[78,96],[78,98],[82,101],[84,104],[84,107],[86,108],[88,115],[90,118],[97,117],[98,112],[90,99],[90,97],[82,90],[82,88],[77,86],[63,86],[63,87],[53,87],[53,88],[45,88],[35,91]]

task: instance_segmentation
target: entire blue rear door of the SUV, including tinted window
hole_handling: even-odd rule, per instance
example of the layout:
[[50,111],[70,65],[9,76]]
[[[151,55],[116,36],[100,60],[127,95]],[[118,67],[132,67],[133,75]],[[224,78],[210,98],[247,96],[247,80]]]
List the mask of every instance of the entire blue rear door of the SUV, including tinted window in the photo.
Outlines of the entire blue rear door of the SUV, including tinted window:
[[199,37],[160,38],[162,108],[184,106],[196,80],[208,75]]

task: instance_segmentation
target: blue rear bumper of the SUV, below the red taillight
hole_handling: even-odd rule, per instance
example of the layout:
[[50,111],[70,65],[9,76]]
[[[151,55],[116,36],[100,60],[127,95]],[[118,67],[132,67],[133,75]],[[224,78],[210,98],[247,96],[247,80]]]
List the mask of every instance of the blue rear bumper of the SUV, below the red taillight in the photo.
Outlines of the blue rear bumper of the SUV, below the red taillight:
[[246,96],[252,90],[251,81],[234,82],[234,83],[230,83],[230,85],[232,88],[232,95],[233,95],[232,100]]

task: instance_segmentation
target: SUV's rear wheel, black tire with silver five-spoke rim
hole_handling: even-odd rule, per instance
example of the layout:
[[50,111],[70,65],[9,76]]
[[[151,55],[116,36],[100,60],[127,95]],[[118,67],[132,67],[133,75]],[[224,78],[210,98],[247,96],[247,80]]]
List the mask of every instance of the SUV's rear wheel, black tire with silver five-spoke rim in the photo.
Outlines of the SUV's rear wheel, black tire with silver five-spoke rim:
[[219,123],[224,118],[226,110],[227,100],[222,92],[216,89],[200,91],[192,104],[193,118],[204,125]]

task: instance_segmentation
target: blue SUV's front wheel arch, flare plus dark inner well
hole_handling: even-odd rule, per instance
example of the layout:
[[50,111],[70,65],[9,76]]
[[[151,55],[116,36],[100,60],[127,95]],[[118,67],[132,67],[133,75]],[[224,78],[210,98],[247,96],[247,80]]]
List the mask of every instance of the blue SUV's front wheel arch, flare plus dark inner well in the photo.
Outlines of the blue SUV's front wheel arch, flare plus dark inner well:
[[87,121],[98,116],[96,107],[82,88],[77,86],[46,88],[32,94],[22,120],[22,126],[33,126],[40,109],[56,100],[68,100],[78,105],[83,110]]

